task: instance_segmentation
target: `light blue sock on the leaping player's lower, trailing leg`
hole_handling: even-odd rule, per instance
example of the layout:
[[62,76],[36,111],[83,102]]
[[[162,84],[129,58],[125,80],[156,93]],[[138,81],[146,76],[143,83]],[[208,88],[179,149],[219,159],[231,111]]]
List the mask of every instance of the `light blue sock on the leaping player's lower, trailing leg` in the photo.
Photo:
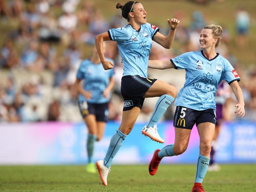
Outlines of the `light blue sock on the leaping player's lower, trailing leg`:
[[110,168],[113,158],[115,157],[116,153],[122,146],[123,141],[125,140],[126,137],[127,135],[123,134],[119,129],[116,130],[116,133],[112,136],[110,140],[110,144],[108,146],[107,154],[104,158],[104,165],[107,168]]

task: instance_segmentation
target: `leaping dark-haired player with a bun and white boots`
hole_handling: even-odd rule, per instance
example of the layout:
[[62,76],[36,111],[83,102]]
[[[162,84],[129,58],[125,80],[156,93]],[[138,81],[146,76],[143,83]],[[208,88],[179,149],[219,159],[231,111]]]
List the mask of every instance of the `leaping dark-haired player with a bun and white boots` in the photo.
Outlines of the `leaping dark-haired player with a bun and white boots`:
[[127,19],[129,24],[121,28],[110,29],[108,32],[95,37],[95,45],[104,69],[112,69],[113,63],[104,57],[103,41],[117,41],[118,50],[123,60],[121,95],[124,102],[121,125],[110,140],[104,160],[96,162],[99,175],[105,186],[107,186],[107,175],[112,160],[126,136],[133,129],[144,98],[160,97],[149,123],[144,127],[142,133],[157,142],[163,143],[164,140],[159,136],[156,124],[177,95],[175,87],[155,78],[149,78],[147,69],[152,40],[164,48],[170,48],[179,21],[177,19],[168,20],[170,32],[165,37],[159,33],[157,26],[147,23],[147,13],[139,2],[129,1],[124,6],[118,3],[116,8],[122,10],[122,16]]

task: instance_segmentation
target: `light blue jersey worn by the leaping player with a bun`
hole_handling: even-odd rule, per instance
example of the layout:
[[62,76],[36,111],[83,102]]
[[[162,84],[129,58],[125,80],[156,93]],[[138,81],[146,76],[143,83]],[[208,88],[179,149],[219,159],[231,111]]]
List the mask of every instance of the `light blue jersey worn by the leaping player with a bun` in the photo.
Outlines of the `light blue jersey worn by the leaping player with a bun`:
[[108,30],[110,39],[117,42],[123,60],[123,76],[140,75],[148,77],[148,56],[153,36],[159,31],[157,26],[149,23],[136,31],[130,24]]

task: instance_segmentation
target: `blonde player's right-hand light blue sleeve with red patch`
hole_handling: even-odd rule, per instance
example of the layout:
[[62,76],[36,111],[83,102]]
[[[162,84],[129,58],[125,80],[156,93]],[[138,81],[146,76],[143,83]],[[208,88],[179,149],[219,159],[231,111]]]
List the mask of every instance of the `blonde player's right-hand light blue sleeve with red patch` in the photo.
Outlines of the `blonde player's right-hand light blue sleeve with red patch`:
[[222,72],[222,79],[224,79],[228,84],[234,81],[240,81],[238,73],[235,71],[234,67],[228,62],[224,61],[224,71]]

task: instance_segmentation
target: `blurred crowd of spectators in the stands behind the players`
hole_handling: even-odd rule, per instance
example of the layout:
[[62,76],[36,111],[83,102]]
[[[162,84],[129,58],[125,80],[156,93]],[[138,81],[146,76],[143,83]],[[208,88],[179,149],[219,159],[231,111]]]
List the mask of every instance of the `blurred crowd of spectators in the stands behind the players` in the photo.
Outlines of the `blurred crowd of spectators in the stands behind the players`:
[[[59,16],[52,14],[50,9],[53,8],[59,10]],[[162,60],[199,49],[200,31],[209,24],[204,15],[200,11],[194,12],[189,26],[182,22],[182,11],[176,11],[174,17],[181,20],[175,39],[179,48],[167,50],[153,43],[149,59]],[[78,94],[73,86],[79,64],[85,59],[84,50],[78,45],[92,47],[95,35],[123,26],[127,24],[126,20],[116,14],[106,21],[93,1],[88,0],[0,0],[0,22],[10,22],[10,26],[11,22],[18,23],[17,27],[10,28],[0,45],[0,122],[82,121],[77,105]],[[237,10],[234,25],[237,44],[243,47],[250,28],[250,16],[246,10]],[[169,30],[167,24],[159,28],[163,34]],[[232,63],[241,77],[245,119],[256,120],[256,70],[253,67],[245,69],[243,63],[229,53],[229,42],[230,34],[224,28],[217,51]],[[123,105],[120,95],[121,58],[115,42],[109,41],[107,46],[107,57],[115,61],[116,81],[109,119],[120,120]],[[173,72],[175,76],[175,70]],[[149,70],[152,77],[157,73],[157,70]],[[176,75],[175,78],[184,82],[185,76]],[[176,86],[168,78],[161,80]],[[148,120],[155,102],[154,99],[145,100],[138,121]],[[230,112],[230,119],[235,118],[233,113]],[[172,119],[171,114],[170,110],[165,118]]]

